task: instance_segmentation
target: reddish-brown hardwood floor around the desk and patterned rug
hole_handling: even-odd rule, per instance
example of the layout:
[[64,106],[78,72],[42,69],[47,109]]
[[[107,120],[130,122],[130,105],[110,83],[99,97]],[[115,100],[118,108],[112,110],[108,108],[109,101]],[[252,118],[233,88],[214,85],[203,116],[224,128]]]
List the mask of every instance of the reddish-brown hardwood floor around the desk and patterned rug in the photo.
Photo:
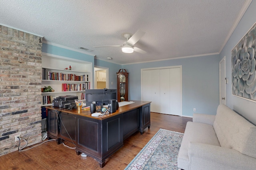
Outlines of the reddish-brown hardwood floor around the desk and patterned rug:
[[[55,141],[49,141],[30,150],[23,152],[15,151],[0,156],[0,169],[123,170],[159,129],[184,133],[187,121],[192,121],[192,118],[151,112],[150,129],[145,129],[142,135],[138,131],[128,137],[124,141],[124,146],[106,159],[106,165],[103,168],[100,168],[94,158],[90,156],[78,156],[74,149],[69,149],[62,144],[57,145]],[[70,147],[74,147],[71,143],[64,143]]]

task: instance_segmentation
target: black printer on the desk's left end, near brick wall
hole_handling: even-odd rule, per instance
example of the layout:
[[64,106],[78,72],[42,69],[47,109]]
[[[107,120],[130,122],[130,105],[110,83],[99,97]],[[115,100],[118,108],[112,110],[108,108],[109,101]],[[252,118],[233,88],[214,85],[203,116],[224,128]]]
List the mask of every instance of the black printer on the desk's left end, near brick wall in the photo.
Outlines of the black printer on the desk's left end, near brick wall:
[[52,106],[68,108],[69,106],[71,106],[71,103],[75,102],[76,99],[78,99],[78,96],[59,96],[54,98],[54,100],[52,101]]

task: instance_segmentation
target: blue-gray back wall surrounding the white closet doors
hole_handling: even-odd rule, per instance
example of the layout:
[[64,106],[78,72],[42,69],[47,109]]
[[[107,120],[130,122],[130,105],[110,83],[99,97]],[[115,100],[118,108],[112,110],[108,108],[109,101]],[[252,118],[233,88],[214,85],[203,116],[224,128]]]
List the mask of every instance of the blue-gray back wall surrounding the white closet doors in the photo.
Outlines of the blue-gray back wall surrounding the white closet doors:
[[123,65],[129,72],[129,99],[141,100],[141,69],[182,65],[182,115],[216,114],[219,105],[219,55]]

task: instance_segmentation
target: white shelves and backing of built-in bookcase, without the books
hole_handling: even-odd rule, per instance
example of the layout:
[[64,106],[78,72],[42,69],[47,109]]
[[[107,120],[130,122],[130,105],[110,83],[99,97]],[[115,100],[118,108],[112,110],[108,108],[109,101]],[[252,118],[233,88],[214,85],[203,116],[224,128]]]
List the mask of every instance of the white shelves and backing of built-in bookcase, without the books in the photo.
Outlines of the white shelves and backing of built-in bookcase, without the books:
[[[71,66],[72,70],[65,70],[65,68],[69,68],[69,66]],[[58,80],[42,80],[42,88],[44,88],[44,86],[51,86],[54,89],[54,92],[42,92],[42,96],[52,96],[52,98],[56,98],[58,96],[74,95],[78,96],[78,99],[81,99],[82,93],[84,93],[85,90],[62,91],[62,84],[74,84],[73,86],[75,86],[76,84],[86,83],[88,85],[87,89],[92,88],[91,62],[71,59],[68,57],[62,57],[48,53],[42,53],[42,68],[47,69],[47,76],[48,72],[73,74],[76,76],[86,75],[86,79],[82,81],[60,80],[60,78]],[[47,79],[49,79],[49,76]],[[52,104],[43,104],[42,102],[42,106],[49,105]]]

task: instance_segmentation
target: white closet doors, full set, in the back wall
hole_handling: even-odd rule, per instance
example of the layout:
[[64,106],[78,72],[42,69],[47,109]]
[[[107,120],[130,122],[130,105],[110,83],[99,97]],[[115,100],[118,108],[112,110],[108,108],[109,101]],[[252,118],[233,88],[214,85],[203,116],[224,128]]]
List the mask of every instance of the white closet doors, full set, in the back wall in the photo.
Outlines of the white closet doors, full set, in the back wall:
[[142,70],[142,100],[152,112],[182,115],[181,66]]

